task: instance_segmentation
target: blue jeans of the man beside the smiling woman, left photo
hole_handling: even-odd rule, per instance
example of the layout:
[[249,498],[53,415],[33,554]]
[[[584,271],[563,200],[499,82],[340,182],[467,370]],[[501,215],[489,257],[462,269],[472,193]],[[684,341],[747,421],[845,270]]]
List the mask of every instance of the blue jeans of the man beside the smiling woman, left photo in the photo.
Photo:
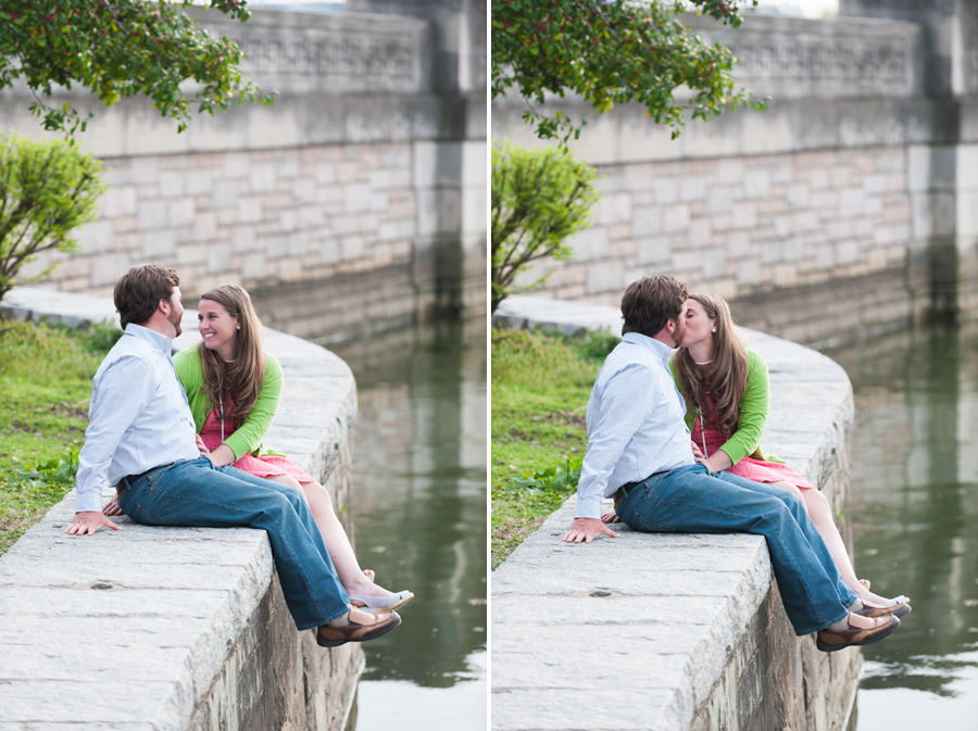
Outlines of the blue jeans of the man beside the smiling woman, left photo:
[[149,526],[262,528],[296,627],[318,627],[350,610],[323,535],[294,488],[201,457],[146,472],[129,483],[120,507]]

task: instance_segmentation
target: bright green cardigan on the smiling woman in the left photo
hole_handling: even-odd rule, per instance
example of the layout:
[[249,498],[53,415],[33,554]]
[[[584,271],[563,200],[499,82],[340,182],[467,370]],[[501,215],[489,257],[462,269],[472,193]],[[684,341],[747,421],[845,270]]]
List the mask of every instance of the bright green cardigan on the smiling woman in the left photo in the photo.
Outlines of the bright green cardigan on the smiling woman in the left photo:
[[[208,394],[201,393],[204,387],[203,366],[200,363],[198,345],[180,351],[173,356],[173,365],[177,371],[177,378],[187,392],[187,401],[190,402],[190,413],[193,415],[193,424],[197,432],[208,418]],[[260,456],[275,454],[271,450],[262,448],[262,438],[272,426],[275,412],[278,411],[278,401],[281,399],[283,374],[281,365],[271,355],[265,355],[265,377],[259,391],[254,408],[244,417],[244,423],[230,437],[224,440],[235,453],[235,459],[243,454]]]

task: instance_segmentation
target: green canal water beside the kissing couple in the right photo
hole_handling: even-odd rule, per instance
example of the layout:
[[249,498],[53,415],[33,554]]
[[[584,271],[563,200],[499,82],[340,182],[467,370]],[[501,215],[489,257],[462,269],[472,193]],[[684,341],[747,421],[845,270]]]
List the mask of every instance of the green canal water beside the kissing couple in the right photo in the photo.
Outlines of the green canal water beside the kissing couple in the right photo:
[[978,731],[978,322],[826,353],[852,380],[856,574],[906,594],[863,648],[856,731]]

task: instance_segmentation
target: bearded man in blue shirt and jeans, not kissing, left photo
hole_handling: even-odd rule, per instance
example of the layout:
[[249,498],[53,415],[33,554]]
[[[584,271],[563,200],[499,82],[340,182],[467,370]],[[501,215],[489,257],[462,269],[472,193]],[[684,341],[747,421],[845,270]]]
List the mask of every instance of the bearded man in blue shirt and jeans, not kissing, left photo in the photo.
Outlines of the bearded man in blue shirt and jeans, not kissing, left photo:
[[133,267],[114,300],[125,335],[92,379],[89,426],[78,455],[75,518],[65,533],[105,526],[102,484],[116,486],[133,520],[154,526],[251,526],[268,532],[286,603],[300,630],[324,647],[364,642],[401,622],[350,606],[302,494],[290,487],[215,467],[197,446],[187,394],[171,358],[180,335],[179,277],[159,265]]

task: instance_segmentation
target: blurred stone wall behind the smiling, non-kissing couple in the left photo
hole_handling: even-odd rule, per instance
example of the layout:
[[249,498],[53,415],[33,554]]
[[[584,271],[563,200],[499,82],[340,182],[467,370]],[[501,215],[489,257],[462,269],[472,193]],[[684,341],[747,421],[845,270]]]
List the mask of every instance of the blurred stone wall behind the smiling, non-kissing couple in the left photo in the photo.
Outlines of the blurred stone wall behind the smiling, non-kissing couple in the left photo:
[[[269,300],[298,288],[313,293],[309,317],[276,319],[259,302],[266,322],[333,339],[484,311],[485,84],[439,81],[431,42],[439,23],[478,25],[462,11],[258,10],[242,24],[191,9],[240,45],[242,74],[276,91],[275,104],[198,117],[178,135],[142,99],[106,110],[64,92],[95,112],[77,141],[111,168],[109,191],[78,230],[80,252],[42,254],[23,274],[62,261],[45,286],[108,295],[127,267],[160,262],[178,268],[190,299],[224,282]],[[485,13],[481,23],[485,34]],[[455,63],[468,68],[467,59]],[[0,93],[0,128],[42,136],[29,102],[24,89]],[[391,270],[397,288],[373,297]],[[351,277],[352,297],[315,294]]]

